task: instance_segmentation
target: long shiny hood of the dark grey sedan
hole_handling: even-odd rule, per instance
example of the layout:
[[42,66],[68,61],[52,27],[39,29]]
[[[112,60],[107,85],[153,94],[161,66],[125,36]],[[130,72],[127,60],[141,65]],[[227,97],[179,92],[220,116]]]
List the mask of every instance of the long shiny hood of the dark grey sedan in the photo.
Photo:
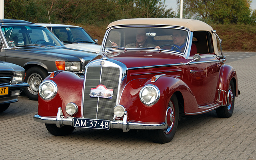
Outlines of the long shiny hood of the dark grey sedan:
[[48,57],[54,59],[62,59],[67,61],[78,61],[84,57],[96,57],[97,54],[88,51],[81,51],[77,49],[71,49],[66,47],[33,47],[33,48],[17,48],[15,50],[24,51],[27,55]]

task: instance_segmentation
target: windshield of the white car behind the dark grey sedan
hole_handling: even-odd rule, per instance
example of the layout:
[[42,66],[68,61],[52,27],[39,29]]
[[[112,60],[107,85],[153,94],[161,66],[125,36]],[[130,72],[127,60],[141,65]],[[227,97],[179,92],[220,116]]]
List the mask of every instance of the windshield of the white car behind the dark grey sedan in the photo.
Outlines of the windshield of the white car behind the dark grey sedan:
[[64,43],[96,43],[83,28],[52,27],[52,33]]

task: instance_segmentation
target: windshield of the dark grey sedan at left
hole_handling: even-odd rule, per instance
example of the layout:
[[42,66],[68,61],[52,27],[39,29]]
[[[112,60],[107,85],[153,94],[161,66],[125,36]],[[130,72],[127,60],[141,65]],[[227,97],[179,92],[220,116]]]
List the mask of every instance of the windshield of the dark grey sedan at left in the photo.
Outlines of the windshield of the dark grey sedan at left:
[[9,47],[22,47],[26,45],[64,45],[45,27],[39,26],[2,26],[2,32]]

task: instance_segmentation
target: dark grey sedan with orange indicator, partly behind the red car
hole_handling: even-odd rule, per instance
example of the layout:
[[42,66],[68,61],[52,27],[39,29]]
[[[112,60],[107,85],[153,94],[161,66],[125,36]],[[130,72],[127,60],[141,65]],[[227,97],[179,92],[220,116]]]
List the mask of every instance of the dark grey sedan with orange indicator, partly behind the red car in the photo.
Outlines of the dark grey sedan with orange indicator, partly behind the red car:
[[46,27],[23,20],[0,20],[0,60],[26,70],[26,95],[38,99],[38,87],[53,71],[83,75],[84,66],[96,53],[69,49]]

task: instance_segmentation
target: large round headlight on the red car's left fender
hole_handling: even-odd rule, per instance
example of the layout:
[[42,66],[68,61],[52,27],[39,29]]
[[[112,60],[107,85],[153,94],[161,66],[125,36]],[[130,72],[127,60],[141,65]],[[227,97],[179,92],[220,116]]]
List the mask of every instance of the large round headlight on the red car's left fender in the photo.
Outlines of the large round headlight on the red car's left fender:
[[43,81],[39,86],[39,95],[42,99],[52,99],[58,91],[58,87],[54,81],[46,80]]

